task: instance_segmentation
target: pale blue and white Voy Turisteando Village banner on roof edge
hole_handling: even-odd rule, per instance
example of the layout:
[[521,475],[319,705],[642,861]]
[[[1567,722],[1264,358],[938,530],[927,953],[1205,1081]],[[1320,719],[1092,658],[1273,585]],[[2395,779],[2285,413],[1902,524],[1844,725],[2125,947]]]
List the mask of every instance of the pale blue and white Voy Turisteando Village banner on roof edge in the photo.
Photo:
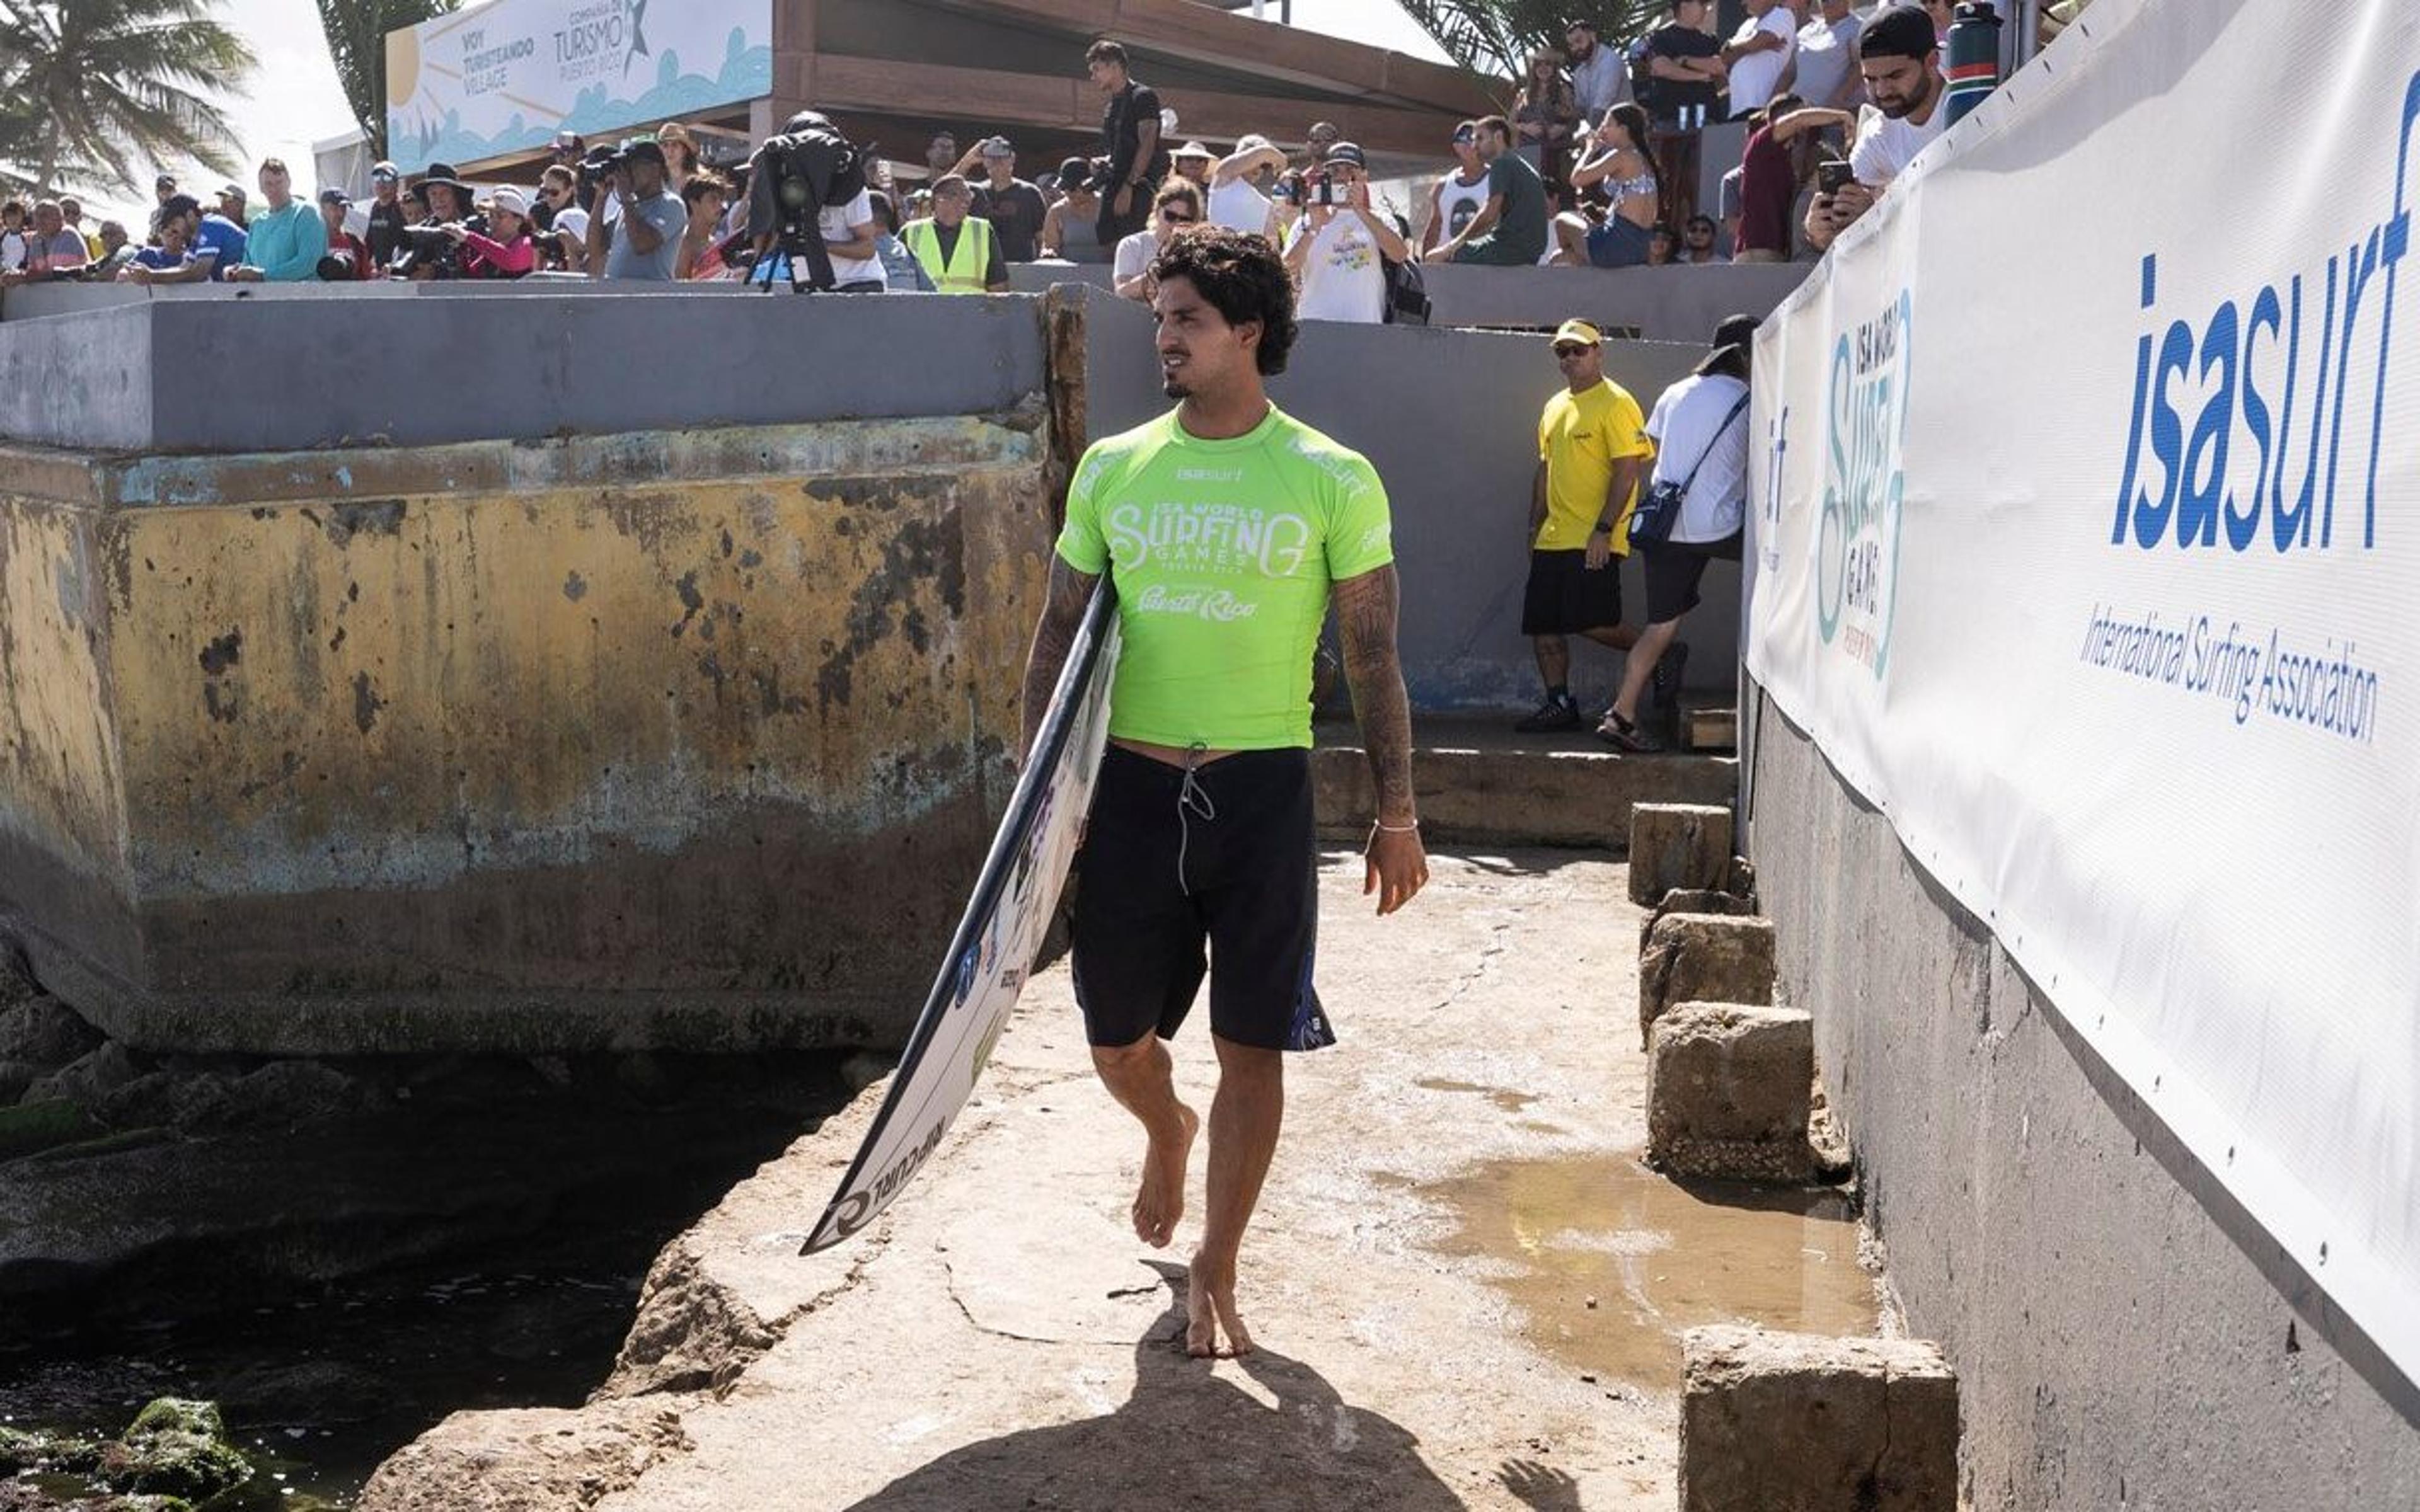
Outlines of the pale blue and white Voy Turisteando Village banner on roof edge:
[[772,94],[772,0],[491,0],[387,34],[407,174]]

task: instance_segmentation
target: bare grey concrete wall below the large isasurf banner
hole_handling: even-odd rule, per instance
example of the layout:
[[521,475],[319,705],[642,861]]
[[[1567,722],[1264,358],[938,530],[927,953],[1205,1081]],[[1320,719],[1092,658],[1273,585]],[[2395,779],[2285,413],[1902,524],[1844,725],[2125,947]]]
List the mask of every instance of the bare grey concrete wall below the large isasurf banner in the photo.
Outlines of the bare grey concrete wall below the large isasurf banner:
[[1958,1367],[1970,1505],[2420,1507],[2420,1389],[1769,706],[1752,781],[1784,992]]

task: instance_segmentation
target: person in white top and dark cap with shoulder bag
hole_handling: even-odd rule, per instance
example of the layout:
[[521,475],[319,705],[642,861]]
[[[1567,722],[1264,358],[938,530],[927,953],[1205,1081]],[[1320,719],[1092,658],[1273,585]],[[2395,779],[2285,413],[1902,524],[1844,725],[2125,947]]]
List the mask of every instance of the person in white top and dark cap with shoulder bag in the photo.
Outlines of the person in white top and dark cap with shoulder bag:
[[[1696,607],[1709,561],[1740,559],[1747,525],[1747,348],[1754,336],[1754,314],[1725,319],[1696,373],[1665,389],[1648,416],[1648,435],[1655,438],[1648,494],[1679,489],[1682,501],[1667,539],[1631,539],[1648,581],[1648,627],[1621,663],[1621,694],[1597,726],[1607,745],[1663,750],[1679,723],[1679,675],[1689,660],[1679,641],[1682,614]],[[1638,723],[1648,677],[1655,680],[1665,735]]]

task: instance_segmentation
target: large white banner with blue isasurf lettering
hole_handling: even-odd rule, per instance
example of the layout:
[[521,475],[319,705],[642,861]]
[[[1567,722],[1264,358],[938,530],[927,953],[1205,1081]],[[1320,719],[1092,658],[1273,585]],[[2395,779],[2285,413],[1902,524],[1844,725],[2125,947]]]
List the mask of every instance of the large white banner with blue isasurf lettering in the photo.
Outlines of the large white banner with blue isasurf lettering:
[[2086,24],[1759,334],[1747,665],[2420,1379],[2420,27]]

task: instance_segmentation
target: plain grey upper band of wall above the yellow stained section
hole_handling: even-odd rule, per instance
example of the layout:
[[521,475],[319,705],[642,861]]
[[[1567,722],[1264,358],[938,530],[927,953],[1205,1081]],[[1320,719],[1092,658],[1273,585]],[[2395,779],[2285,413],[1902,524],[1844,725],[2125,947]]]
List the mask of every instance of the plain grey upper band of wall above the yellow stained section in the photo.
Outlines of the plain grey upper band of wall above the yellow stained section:
[[392,288],[414,293],[15,290],[73,310],[10,305],[0,435],[140,452],[438,445],[999,414],[1043,389],[1041,314],[1024,298]]

